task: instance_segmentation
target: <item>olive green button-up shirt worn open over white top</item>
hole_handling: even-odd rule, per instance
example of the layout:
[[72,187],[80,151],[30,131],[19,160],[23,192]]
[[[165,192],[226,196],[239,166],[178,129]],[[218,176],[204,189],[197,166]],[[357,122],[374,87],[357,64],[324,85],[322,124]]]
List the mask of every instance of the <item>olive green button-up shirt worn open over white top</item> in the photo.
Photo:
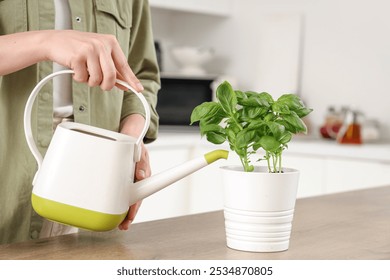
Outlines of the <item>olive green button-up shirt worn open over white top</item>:
[[[147,0],[69,0],[73,29],[116,35],[134,74],[141,81],[151,107],[151,125],[145,142],[157,137],[155,110],[160,79]],[[30,30],[54,29],[54,3],[50,0],[0,0],[0,36]],[[1,48],[1,46],[0,46]],[[0,61],[1,63],[1,61]],[[32,179],[37,165],[23,131],[26,100],[39,80],[52,72],[52,62],[42,62],[0,76],[0,243],[39,236],[42,218],[32,210]],[[73,83],[76,122],[118,131],[120,121],[143,114],[138,98],[117,88]],[[52,82],[39,93],[32,116],[35,141],[44,154],[52,137]]]

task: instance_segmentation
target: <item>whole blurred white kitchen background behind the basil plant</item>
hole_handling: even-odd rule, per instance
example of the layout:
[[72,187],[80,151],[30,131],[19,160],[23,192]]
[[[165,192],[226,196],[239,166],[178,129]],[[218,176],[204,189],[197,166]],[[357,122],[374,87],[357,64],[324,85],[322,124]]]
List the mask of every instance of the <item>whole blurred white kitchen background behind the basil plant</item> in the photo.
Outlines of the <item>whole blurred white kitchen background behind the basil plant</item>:
[[[390,184],[388,0],[149,2],[163,86],[161,132],[149,145],[154,172],[219,148],[196,128],[185,132],[193,107],[226,79],[274,97],[299,94],[314,109],[305,120],[309,134],[284,156],[301,171],[299,197]],[[341,139],[346,124],[361,134]],[[217,169],[146,199],[138,219],[221,209]],[[156,205],[165,207],[156,213]]]

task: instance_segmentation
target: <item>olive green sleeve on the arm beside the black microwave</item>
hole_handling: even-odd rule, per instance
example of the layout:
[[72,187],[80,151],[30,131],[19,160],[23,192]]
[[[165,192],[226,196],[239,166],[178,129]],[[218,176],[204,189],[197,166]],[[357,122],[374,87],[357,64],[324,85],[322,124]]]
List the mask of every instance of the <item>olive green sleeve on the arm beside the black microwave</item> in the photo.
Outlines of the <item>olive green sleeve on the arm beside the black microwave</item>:
[[[160,89],[160,75],[154,48],[151,15],[147,0],[133,1],[133,22],[129,46],[128,62],[136,77],[141,81],[142,94],[150,106],[150,127],[144,142],[149,143],[157,138],[158,114],[156,111],[157,92]],[[125,92],[122,105],[122,119],[131,114],[144,114],[139,99]]]

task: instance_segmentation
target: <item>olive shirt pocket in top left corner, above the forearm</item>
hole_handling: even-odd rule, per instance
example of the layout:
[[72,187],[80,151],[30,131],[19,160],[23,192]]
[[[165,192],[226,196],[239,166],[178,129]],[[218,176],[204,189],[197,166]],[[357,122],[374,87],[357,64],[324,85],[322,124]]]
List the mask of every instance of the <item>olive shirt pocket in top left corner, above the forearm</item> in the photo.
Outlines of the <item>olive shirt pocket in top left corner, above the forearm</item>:
[[26,0],[0,0],[0,35],[27,31]]

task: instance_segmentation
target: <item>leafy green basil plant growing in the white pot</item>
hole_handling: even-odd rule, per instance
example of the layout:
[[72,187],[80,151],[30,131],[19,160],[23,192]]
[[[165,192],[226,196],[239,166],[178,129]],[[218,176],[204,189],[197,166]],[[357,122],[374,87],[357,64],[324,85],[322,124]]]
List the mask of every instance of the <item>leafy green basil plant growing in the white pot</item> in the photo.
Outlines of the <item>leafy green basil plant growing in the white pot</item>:
[[251,156],[262,149],[269,172],[282,172],[282,152],[292,136],[307,133],[302,118],[312,109],[299,96],[284,94],[277,100],[266,92],[233,90],[227,82],[217,88],[217,101],[194,108],[191,124],[199,122],[200,133],[214,144],[229,143],[240,158],[244,170],[254,166]]

